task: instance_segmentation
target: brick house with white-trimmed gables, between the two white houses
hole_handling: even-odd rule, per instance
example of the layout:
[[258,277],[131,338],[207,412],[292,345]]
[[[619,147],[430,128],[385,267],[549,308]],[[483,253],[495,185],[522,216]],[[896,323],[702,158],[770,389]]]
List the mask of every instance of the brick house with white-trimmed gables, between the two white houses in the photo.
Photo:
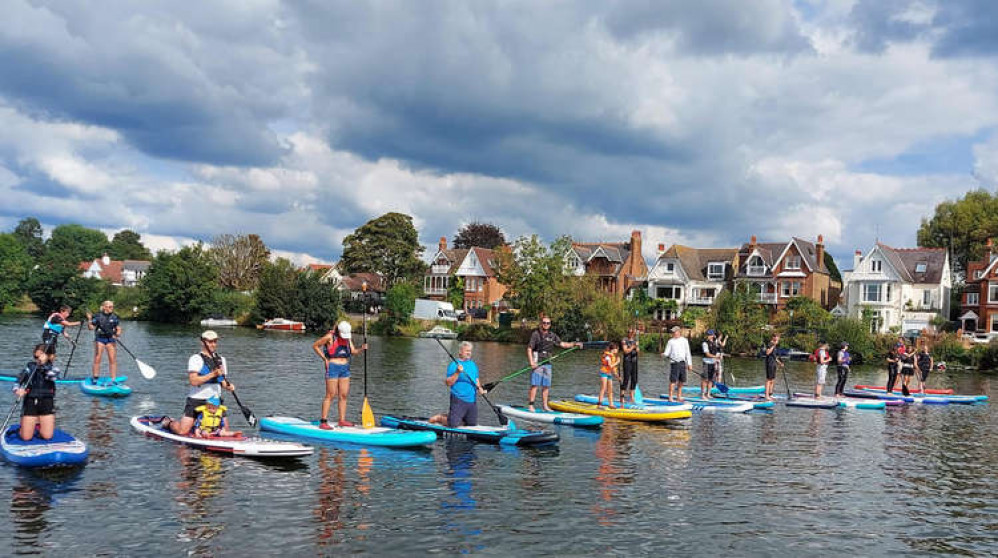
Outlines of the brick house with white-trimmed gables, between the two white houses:
[[776,312],[795,296],[806,296],[822,308],[832,308],[840,286],[825,266],[825,244],[791,238],[787,242],[758,242],[753,235],[735,256],[735,285],[747,285],[759,302]]

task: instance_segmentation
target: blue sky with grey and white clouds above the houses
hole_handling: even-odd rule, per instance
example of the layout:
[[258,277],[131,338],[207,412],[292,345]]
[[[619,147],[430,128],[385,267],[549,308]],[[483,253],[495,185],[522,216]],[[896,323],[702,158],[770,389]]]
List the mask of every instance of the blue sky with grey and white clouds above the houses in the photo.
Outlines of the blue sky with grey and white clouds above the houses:
[[[750,7],[750,8],[749,8]],[[388,211],[735,246],[913,246],[998,182],[990,0],[5,0],[0,228],[299,262]]]

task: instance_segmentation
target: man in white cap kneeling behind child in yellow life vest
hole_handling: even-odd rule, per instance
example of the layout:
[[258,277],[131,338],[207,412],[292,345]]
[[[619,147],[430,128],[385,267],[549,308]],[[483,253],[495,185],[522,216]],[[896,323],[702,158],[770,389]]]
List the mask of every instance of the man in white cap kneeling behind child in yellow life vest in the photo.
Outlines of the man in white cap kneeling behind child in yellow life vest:
[[218,334],[207,330],[201,334],[201,352],[187,360],[187,381],[190,389],[184,404],[184,416],[179,421],[164,419],[163,427],[174,434],[187,436],[194,428],[198,407],[209,398],[221,399],[222,389],[234,391],[236,386],[226,376],[229,370],[225,357],[218,356]]

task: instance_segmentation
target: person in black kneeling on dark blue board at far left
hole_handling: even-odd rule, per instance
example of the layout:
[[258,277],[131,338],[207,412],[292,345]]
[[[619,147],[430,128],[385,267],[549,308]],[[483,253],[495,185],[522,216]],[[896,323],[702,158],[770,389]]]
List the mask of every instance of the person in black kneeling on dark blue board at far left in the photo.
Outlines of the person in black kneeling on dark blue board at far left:
[[14,393],[24,398],[20,431],[24,441],[35,437],[36,427],[44,440],[55,434],[55,379],[59,371],[52,364],[55,353],[50,349],[45,343],[35,345],[35,359],[25,365],[14,386]]

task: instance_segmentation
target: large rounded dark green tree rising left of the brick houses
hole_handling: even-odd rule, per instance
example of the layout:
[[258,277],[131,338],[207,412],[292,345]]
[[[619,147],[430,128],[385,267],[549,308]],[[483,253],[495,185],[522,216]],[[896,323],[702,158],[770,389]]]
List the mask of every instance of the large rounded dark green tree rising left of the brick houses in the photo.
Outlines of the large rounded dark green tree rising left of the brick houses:
[[412,217],[386,213],[343,239],[340,265],[346,273],[380,273],[387,285],[415,280],[426,270]]

